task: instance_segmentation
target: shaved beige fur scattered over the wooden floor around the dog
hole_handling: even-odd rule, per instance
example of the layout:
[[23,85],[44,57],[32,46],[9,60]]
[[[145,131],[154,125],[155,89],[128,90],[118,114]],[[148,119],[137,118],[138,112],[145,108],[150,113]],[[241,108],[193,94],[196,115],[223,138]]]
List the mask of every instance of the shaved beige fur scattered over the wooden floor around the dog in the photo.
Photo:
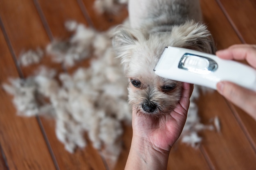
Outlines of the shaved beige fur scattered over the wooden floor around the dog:
[[[104,4],[97,4],[97,8],[106,10]],[[77,147],[84,148],[86,133],[94,148],[115,162],[122,150],[122,123],[131,125],[132,114],[127,101],[128,80],[112,49],[112,29],[97,32],[75,21],[68,21],[65,26],[73,32],[68,41],[55,40],[45,50],[38,48],[24,52],[19,57],[20,65],[40,63],[48,54],[52,62],[75,67],[79,61],[93,56],[88,68],[77,68],[73,74],[68,74],[41,66],[34,75],[25,79],[10,78],[9,83],[2,86],[13,95],[18,115],[54,118],[56,136],[67,151],[73,153]],[[218,118],[211,125],[200,123],[195,104],[199,94],[195,87],[180,137],[181,142],[193,147],[202,141],[198,131],[220,131]]]

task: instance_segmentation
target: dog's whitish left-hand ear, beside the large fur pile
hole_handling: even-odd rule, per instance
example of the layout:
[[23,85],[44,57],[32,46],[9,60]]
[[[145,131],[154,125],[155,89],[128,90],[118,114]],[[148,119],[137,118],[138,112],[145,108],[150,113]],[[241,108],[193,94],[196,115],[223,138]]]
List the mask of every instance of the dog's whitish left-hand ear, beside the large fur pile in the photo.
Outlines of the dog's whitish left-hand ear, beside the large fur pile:
[[117,53],[117,57],[121,59],[121,63],[124,65],[125,70],[128,69],[130,59],[132,56],[132,50],[136,44],[143,41],[145,36],[138,30],[121,28],[112,35],[112,45]]

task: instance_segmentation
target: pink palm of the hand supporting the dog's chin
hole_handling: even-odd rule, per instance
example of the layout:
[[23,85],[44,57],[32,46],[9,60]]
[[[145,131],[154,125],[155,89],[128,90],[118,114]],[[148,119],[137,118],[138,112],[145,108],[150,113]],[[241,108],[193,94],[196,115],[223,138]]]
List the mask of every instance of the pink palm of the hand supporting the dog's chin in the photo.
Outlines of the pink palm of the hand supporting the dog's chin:
[[147,139],[155,147],[169,150],[182,132],[186,115],[174,111],[160,118],[136,116],[133,121],[133,131],[139,132],[139,137]]

